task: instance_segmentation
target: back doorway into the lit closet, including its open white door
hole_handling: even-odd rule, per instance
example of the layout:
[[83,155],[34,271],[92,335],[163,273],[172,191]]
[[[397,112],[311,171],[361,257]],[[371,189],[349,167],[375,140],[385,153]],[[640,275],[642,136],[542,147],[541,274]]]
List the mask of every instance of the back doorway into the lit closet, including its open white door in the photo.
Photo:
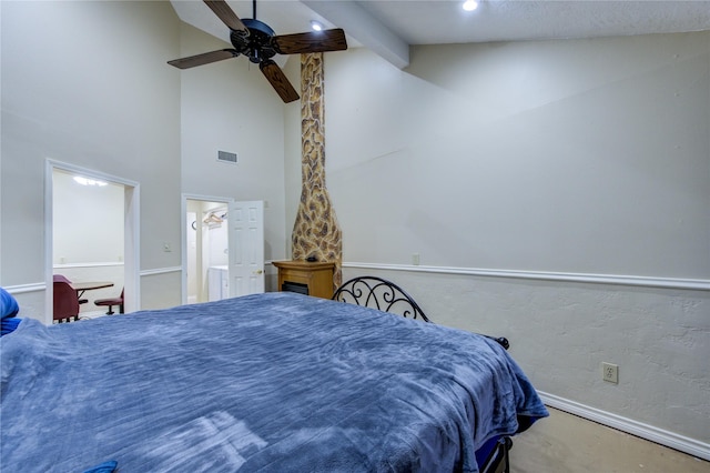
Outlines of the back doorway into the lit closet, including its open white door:
[[264,292],[263,201],[183,195],[183,303]]

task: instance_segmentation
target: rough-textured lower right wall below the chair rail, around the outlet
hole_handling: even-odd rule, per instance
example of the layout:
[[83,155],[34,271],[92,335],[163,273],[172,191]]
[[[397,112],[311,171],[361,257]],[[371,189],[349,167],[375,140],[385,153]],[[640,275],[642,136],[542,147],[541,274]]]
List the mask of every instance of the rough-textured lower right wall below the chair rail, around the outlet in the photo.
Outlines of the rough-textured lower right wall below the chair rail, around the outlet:
[[[710,443],[708,291],[344,272],[396,281],[435,323],[507,336],[541,392]],[[618,384],[601,380],[602,361],[619,365]]]

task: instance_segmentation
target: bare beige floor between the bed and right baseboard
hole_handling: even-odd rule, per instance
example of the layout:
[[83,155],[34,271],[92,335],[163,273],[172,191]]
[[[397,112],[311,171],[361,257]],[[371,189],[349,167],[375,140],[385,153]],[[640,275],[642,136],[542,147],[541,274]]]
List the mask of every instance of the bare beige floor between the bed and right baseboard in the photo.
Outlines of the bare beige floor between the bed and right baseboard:
[[550,409],[514,437],[511,473],[709,473],[710,462]]

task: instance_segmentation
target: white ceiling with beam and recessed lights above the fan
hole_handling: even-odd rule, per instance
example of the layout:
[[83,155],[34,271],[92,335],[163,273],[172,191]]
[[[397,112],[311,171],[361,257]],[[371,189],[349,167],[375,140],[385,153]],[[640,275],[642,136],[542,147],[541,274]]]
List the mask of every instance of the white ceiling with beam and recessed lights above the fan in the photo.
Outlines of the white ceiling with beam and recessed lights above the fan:
[[[229,42],[227,28],[201,0],[171,0],[178,16]],[[229,0],[240,18],[252,1]],[[256,18],[276,34],[308,31],[311,20],[343,28],[349,47],[367,47],[395,66],[412,44],[594,38],[710,30],[710,0],[258,0]]]

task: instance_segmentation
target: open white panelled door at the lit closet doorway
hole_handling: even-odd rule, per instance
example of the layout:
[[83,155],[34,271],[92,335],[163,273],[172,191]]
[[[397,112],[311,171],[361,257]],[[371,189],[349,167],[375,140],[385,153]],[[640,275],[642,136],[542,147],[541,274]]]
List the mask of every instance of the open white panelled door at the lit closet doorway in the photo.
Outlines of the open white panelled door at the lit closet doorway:
[[230,202],[230,296],[264,292],[264,202]]

